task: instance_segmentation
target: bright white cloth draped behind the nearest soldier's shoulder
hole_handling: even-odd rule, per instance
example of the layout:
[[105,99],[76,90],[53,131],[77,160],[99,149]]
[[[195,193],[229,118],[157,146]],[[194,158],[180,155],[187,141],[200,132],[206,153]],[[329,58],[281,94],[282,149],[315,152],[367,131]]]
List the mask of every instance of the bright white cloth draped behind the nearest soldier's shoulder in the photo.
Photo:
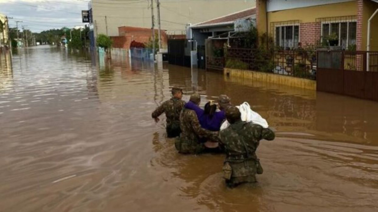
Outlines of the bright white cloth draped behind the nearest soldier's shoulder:
[[[249,106],[248,102],[244,102],[243,104],[240,104],[240,106],[236,107],[239,108],[241,114],[240,118],[242,118],[242,121],[253,122],[254,124],[261,125],[263,128],[269,127],[268,122],[263,117],[261,117],[260,114],[254,112],[251,109],[251,106]],[[228,123],[228,121],[226,120],[225,122],[223,122],[222,126],[220,126],[220,130],[226,129],[229,125],[230,123]]]

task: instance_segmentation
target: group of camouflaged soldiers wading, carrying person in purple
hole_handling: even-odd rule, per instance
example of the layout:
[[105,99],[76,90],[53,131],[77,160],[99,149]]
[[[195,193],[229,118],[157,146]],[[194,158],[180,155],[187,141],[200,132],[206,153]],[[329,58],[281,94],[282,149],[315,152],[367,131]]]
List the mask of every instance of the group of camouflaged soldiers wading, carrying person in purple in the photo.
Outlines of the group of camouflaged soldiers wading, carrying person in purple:
[[[263,172],[256,149],[260,140],[273,140],[274,132],[259,124],[242,121],[239,109],[232,106],[226,95],[219,96],[218,104],[209,101],[204,109],[199,107],[199,94],[192,94],[188,103],[181,100],[182,97],[182,89],[172,88],[172,98],[152,113],[155,122],[161,114],[166,114],[167,137],[178,137],[175,141],[177,151],[182,154],[225,153],[223,177],[226,185],[255,183],[256,174]],[[220,111],[216,111],[217,105]],[[220,130],[226,120],[230,125]]]

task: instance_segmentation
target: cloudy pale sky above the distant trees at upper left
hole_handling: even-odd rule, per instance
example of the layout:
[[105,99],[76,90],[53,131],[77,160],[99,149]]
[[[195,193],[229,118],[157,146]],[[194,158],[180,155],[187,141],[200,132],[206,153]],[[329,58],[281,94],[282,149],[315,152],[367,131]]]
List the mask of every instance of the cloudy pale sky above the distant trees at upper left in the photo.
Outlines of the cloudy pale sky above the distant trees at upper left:
[[25,26],[33,32],[64,26],[84,26],[81,11],[88,9],[89,0],[0,0],[0,14],[12,17],[9,27]]

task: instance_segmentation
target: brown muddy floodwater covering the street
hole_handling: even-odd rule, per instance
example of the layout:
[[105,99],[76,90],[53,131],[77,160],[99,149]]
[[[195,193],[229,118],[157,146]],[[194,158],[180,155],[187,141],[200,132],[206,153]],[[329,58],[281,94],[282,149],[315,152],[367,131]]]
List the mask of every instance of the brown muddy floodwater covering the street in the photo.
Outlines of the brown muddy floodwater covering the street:
[[[0,58],[1,212],[378,211],[378,103],[48,46]],[[259,183],[175,151],[151,118],[172,86],[268,120]]]

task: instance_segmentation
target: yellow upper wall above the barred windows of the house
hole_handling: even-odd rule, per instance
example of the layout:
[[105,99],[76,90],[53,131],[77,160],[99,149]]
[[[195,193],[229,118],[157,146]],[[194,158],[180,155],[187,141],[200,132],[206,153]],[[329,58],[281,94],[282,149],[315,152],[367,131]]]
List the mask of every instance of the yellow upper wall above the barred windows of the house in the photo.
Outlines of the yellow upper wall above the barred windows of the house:
[[299,20],[301,23],[311,23],[316,18],[348,15],[357,15],[357,1],[268,12],[268,32],[271,22]]

